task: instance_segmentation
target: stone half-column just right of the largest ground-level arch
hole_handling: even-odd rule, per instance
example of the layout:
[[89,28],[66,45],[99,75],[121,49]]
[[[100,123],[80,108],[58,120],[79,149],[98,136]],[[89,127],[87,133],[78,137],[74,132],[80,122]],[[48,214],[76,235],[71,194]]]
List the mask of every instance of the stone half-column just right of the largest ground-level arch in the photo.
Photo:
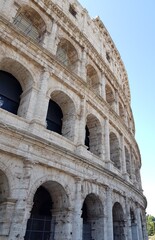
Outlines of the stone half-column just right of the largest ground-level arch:
[[75,201],[74,201],[74,214],[73,214],[73,230],[72,239],[82,239],[83,220],[82,214],[82,198],[81,198],[81,180],[76,179],[75,182]]

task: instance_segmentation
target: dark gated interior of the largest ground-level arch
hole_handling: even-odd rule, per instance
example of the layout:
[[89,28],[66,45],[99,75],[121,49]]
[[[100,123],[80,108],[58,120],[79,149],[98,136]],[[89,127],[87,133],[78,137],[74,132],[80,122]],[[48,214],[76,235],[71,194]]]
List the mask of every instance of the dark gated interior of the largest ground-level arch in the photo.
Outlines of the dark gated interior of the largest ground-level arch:
[[52,199],[44,187],[39,187],[33,199],[33,208],[27,223],[25,240],[53,239]]

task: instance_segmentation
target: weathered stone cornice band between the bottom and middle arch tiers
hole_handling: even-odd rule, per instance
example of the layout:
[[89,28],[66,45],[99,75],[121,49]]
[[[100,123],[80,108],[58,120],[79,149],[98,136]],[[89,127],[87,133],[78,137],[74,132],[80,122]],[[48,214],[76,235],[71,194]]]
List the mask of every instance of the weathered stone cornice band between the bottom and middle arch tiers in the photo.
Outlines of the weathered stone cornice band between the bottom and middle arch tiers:
[[[5,129],[6,128],[6,129]],[[93,171],[96,173],[96,175],[98,176],[98,178],[94,178],[94,181],[96,181],[96,184],[99,185],[103,185],[102,182],[102,177],[103,173],[105,174],[105,176],[108,176],[111,178],[111,181],[118,181],[122,187],[128,187],[129,189],[132,189],[132,191],[136,194],[139,195],[139,197],[144,201],[145,204],[145,197],[142,194],[141,191],[139,191],[138,189],[135,188],[135,186],[127,181],[124,181],[124,178],[118,176],[117,174],[111,172],[110,170],[106,169],[105,167],[97,164],[96,162],[94,162],[91,159],[87,159],[81,155],[75,154],[75,152],[72,152],[70,150],[66,150],[65,148],[61,147],[60,145],[56,145],[54,143],[51,143],[50,141],[48,141],[47,139],[45,140],[44,138],[41,138],[39,136],[36,137],[36,135],[33,135],[33,133],[30,132],[25,132],[23,131],[19,131],[18,128],[15,127],[11,127],[9,126],[9,132],[7,129],[7,126],[0,123],[0,132],[1,134],[4,134],[5,136],[8,135],[9,136],[13,135],[14,138],[16,138],[16,141],[20,141],[21,139],[25,142],[25,144],[28,144],[29,146],[31,146],[32,148],[29,148],[29,151],[23,151],[22,149],[18,149],[18,151],[16,151],[16,148],[13,146],[9,146],[7,143],[5,144],[5,142],[3,141],[3,144],[1,144],[1,152],[4,152],[6,154],[12,154],[13,156],[18,156],[18,158],[20,158],[21,160],[24,161],[24,159],[29,159],[30,163],[32,164],[39,164],[39,165],[43,165],[43,166],[48,166],[48,167],[54,167],[55,169],[62,171],[62,172],[66,172],[67,174],[70,172],[70,175],[73,177],[77,177],[79,175],[77,175],[77,169],[75,168],[75,170],[73,169],[73,166],[70,166],[70,164],[67,166],[66,162],[65,165],[62,167],[63,162],[61,161],[60,163],[60,159],[61,157],[64,158],[64,156],[66,157],[66,160],[71,161],[73,163],[73,165],[78,164],[78,166],[81,165],[81,169],[87,169],[90,171]],[[24,144],[23,142],[23,144]],[[34,146],[38,146],[40,149],[43,149],[42,152],[46,151],[50,151],[51,154],[49,154],[49,156],[57,156],[57,158],[59,159],[59,161],[50,161],[50,159],[45,159],[44,155],[36,155],[34,153]],[[33,149],[33,151],[31,152],[31,149]],[[26,155],[25,155],[26,153]],[[28,156],[27,156],[28,155]],[[31,157],[30,157],[31,156]],[[73,161],[72,161],[73,160]],[[85,165],[85,168],[83,168],[83,166]],[[70,166],[70,167],[69,167]],[[69,169],[68,169],[69,167]],[[83,177],[83,179],[85,178],[85,174],[83,173],[83,171],[79,171],[78,174],[81,175],[81,177]],[[89,174],[88,174],[89,175]],[[87,175],[87,178],[88,178]],[[91,177],[91,181],[93,180],[92,175],[90,175]],[[87,180],[86,178],[86,180]],[[104,182],[104,186],[105,186],[105,182]],[[117,190],[117,189],[116,189]]]

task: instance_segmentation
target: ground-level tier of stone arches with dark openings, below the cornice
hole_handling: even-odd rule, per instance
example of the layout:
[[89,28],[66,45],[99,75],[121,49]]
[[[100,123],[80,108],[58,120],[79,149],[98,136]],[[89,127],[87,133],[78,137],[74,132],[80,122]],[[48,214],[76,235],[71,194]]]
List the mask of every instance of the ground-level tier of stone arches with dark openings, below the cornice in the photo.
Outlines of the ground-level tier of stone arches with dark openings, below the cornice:
[[0,170],[0,239],[147,239],[145,209],[127,189],[122,196],[110,186],[50,171],[26,163],[23,176],[13,173],[10,182],[9,172]]

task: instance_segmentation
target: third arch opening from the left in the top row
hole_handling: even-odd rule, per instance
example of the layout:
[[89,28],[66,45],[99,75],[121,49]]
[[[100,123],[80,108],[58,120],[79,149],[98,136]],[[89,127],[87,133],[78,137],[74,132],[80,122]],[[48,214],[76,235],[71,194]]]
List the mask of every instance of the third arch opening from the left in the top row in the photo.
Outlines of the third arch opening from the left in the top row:
[[99,87],[100,87],[100,81],[98,74],[93,66],[90,64],[86,67],[87,71],[87,83],[91,90],[93,90],[95,93],[99,93]]

